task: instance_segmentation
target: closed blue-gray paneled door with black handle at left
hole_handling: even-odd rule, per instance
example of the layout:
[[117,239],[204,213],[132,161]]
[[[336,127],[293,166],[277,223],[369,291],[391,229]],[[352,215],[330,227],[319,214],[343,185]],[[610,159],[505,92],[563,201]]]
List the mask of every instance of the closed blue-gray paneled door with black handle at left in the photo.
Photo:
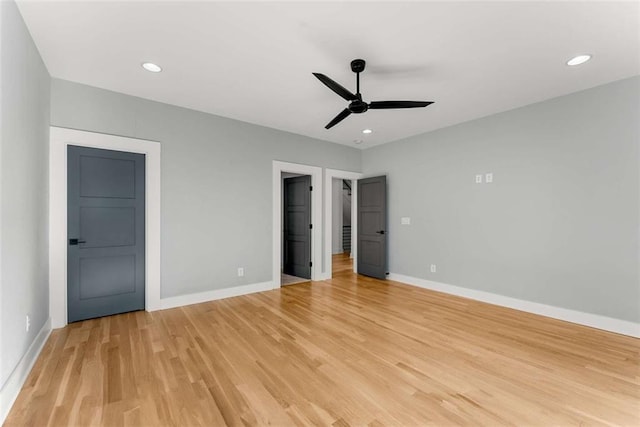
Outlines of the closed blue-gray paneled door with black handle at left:
[[69,146],[69,322],[144,310],[143,154]]

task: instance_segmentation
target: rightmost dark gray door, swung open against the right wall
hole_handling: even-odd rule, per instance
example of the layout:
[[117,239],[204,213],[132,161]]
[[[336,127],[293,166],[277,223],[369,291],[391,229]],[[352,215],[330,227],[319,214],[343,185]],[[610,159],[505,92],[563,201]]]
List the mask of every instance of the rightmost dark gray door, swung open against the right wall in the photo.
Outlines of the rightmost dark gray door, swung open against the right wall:
[[387,177],[358,180],[358,273],[387,275]]

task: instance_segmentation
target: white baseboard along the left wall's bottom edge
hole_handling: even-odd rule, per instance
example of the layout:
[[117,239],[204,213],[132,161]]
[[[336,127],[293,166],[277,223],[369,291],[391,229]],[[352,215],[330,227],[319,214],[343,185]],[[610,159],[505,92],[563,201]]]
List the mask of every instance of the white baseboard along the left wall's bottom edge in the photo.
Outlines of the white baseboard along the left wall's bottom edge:
[[42,347],[44,347],[44,343],[47,342],[50,334],[51,318],[48,318],[27,349],[27,352],[22,356],[20,362],[18,362],[18,366],[16,366],[11,375],[9,375],[4,387],[0,390],[0,425],[4,423],[7,415],[9,415],[13,403],[16,401],[24,382],[27,380],[29,372],[31,372],[31,368],[33,368],[33,364],[38,359]]

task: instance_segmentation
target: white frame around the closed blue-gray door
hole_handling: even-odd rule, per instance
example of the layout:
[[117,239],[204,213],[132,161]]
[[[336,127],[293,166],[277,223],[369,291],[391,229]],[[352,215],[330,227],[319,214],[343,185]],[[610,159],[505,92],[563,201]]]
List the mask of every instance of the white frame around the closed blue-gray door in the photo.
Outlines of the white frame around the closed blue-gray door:
[[145,310],[160,309],[160,144],[51,126],[49,145],[49,313],[67,324],[67,145],[145,155]]

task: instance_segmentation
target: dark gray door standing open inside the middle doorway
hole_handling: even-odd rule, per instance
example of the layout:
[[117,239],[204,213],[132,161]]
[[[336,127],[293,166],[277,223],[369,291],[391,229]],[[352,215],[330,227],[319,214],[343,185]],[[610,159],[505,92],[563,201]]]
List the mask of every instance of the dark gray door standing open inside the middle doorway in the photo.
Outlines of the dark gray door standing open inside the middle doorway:
[[284,268],[311,279],[311,177],[284,179]]

